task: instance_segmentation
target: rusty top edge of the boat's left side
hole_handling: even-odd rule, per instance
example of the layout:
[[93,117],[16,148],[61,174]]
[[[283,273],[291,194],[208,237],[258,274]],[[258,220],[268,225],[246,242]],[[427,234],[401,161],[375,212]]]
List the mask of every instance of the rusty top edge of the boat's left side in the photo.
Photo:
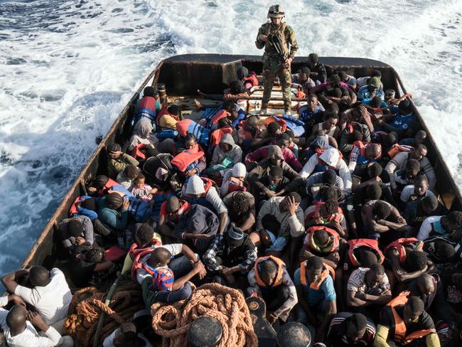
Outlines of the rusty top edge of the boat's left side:
[[161,60],[161,62],[156,66],[156,68],[151,73],[149,73],[148,77],[144,80],[144,82],[141,83],[140,87],[136,90],[134,95],[130,98],[127,105],[125,105],[123,110],[119,113],[117,118],[114,120],[114,124],[112,124],[112,126],[109,128],[107,133],[104,135],[102,141],[100,142],[100,144],[98,144],[92,156],[90,156],[90,159],[87,160],[87,162],[85,163],[85,166],[83,166],[79,175],[75,178],[74,183],[72,183],[72,186],[70,186],[68,193],[66,193],[60,205],[58,206],[58,208],[56,208],[55,213],[53,213],[53,216],[50,218],[47,225],[45,225],[45,228],[43,229],[41,235],[38,237],[36,242],[34,242],[34,244],[32,245],[31,250],[28,252],[26,259],[23,261],[21,265],[21,269],[30,266],[30,263],[36,256],[36,251],[38,250],[38,247],[40,247],[42,242],[44,242],[48,238],[48,234],[51,233],[53,230],[53,225],[55,225],[55,223],[58,223],[59,215],[63,213],[63,210],[68,209],[69,201],[72,199],[72,192],[75,191],[75,189],[78,189],[78,186],[80,185],[82,181],[85,182],[85,179],[87,177],[87,171],[89,171],[92,162],[97,159],[97,156],[100,154],[102,149],[104,149],[104,146],[106,146],[107,139],[116,132],[121,122],[124,121],[124,117],[126,117],[126,114],[127,114],[127,111],[129,110],[130,105],[134,102],[134,100],[136,100],[136,97],[138,97],[141,90],[144,89],[146,84],[149,82],[149,80],[151,80],[151,78],[153,78],[153,76],[154,76],[154,82],[159,78],[159,71],[164,61],[165,59]]

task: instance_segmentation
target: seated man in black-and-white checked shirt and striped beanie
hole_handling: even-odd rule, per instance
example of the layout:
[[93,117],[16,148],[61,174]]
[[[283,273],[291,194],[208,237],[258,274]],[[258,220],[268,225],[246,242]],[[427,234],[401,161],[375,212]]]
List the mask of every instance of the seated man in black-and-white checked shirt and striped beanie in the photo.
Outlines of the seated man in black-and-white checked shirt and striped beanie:
[[222,284],[234,284],[234,274],[247,274],[256,259],[257,247],[249,235],[232,224],[225,235],[215,237],[203,257],[207,269],[215,274],[215,282]]

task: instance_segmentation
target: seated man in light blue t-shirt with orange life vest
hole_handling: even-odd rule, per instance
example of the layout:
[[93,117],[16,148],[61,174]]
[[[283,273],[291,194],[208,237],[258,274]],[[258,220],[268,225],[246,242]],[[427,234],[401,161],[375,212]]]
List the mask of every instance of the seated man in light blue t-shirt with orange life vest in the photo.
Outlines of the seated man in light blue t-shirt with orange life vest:
[[[299,304],[296,306],[296,321],[309,324],[312,336],[321,342],[331,316],[337,313],[335,289],[328,267],[320,257],[308,258],[294,274]],[[321,316],[321,321],[318,319]],[[316,331],[316,333],[314,333]]]

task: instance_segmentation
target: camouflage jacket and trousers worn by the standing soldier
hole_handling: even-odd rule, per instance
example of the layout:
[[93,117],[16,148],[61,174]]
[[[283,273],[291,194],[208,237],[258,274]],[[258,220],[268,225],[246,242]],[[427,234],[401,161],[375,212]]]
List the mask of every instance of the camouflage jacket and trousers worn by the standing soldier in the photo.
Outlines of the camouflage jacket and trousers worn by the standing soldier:
[[[266,110],[271,97],[271,91],[274,85],[276,76],[279,77],[282,87],[282,96],[284,98],[284,110],[289,111],[291,105],[291,84],[292,76],[290,68],[284,68],[284,62],[281,61],[276,49],[267,41],[264,43],[259,40],[259,35],[263,34],[268,36],[269,34],[279,34],[281,41],[286,50],[287,58],[294,58],[294,55],[299,46],[297,45],[294,29],[286,25],[286,23],[280,23],[279,26],[274,26],[272,23],[264,23],[258,30],[257,41],[255,45],[258,49],[264,48],[263,54],[263,99],[262,99],[262,110]],[[289,48],[290,45],[290,48]]]

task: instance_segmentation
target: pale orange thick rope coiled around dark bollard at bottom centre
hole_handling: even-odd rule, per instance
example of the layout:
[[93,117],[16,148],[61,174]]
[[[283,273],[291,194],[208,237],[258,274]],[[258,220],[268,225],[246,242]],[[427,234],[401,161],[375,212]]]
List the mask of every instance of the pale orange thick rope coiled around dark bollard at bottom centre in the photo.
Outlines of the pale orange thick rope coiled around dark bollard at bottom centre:
[[211,283],[195,289],[189,300],[173,304],[156,303],[151,306],[152,327],[163,337],[163,347],[188,346],[186,331],[192,321],[208,316],[222,326],[219,347],[256,347],[249,309],[241,292]]

